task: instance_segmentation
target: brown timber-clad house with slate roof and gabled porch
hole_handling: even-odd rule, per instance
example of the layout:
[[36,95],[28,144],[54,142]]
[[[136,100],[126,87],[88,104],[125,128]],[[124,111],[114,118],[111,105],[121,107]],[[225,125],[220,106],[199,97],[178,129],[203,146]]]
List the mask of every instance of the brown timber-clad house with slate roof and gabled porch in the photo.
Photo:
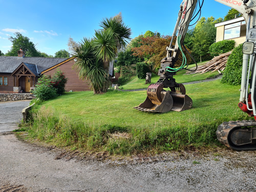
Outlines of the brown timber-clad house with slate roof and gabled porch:
[[30,92],[42,75],[52,75],[57,68],[68,78],[66,91],[88,91],[88,81],[79,79],[73,68],[74,57],[25,57],[23,50],[18,56],[0,56],[0,93]]

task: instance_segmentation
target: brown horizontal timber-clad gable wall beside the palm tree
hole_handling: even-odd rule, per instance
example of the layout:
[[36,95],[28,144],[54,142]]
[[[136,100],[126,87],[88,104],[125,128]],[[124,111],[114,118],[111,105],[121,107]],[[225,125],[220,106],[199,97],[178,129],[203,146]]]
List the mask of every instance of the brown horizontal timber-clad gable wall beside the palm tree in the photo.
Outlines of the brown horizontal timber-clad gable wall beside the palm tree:
[[47,71],[45,75],[53,75],[57,69],[61,70],[68,78],[65,90],[68,91],[91,91],[90,83],[87,80],[82,80],[78,77],[76,69],[73,69],[75,61],[74,59],[69,60],[62,65]]

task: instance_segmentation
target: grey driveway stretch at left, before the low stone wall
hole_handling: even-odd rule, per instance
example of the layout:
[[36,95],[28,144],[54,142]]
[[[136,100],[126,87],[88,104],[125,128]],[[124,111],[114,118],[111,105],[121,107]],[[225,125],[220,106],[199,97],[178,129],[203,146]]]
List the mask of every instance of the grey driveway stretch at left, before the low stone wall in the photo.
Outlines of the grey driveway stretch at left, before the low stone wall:
[[22,120],[22,110],[29,106],[31,100],[0,102],[0,132],[17,129]]

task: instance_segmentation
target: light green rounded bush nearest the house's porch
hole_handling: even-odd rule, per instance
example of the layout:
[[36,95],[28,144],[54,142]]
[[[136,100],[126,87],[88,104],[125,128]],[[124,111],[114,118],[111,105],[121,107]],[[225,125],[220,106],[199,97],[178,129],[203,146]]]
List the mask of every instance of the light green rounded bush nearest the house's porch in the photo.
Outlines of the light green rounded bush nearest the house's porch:
[[57,89],[53,87],[51,77],[41,76],[37,81],[33,94],[40,100],[49,100],[57,97]]

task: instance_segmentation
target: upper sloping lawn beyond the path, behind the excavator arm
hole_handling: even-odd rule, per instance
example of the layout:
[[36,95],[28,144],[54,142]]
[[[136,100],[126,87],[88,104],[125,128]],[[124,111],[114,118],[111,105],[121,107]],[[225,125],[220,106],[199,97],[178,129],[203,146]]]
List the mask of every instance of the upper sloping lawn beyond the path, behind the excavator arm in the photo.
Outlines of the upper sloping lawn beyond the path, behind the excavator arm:
[[[206,62],[201,62],[198,65],[204,65]],[[196,67],[196,65],[189,65],[187,69]],[[198,80],[204,80],[207,78],[212,78],[218,75],[219,73],[216,71],[214,73],[204,73],[204,74],[190,74],[186,75],[186,70],[179,71],[174,78],[176,79],[176,82],[178,83],[184,83],[184,82],[191,82],[191,81],[198,81]],[[156,83],[160,76],[153,74],[151,78],[152,83]],[[145,84],[145,79],[139,79],[138,77],[133,77],[129,82],[121,86],[124,90],[132,90],[132,89],[143,89],[147,88],[148,84]]]

